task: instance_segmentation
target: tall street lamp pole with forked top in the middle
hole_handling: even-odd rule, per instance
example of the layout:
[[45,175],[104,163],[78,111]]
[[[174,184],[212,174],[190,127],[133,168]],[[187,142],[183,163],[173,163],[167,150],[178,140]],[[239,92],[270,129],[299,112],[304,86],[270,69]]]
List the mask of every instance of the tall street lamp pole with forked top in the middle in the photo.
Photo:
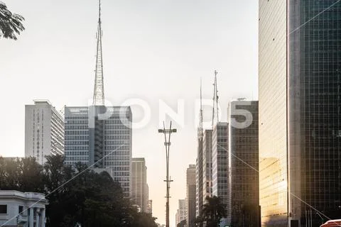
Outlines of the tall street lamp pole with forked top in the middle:
[[172,121],[169,129],[165,128],[165,122],[163,122],[163,128],[158,130],[158,133],[165,135],[165,148],[166,148],[166,227],[169,227],[169,190],[171,189],[171,178],[169,177],[169,147],[171,146],[171,134],[176,133],[176,128],[172,128]]

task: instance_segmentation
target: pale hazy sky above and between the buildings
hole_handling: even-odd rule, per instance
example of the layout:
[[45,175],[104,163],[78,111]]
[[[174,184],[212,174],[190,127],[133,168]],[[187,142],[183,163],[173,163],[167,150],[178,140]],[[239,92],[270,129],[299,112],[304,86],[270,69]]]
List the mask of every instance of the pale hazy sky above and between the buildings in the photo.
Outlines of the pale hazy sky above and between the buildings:
[[[4,0],[2,0],[4,1]],[[26,18],[17,41],[0,40],[0,155],[24,154],[24,106],[49,99],[56,109],[84,106],[94,87],[97,0],[5,0]],[[159,99],[176,110],[185,103],[185,125],[171,138],[171,226],[185,198],[185,170],[195,164],[195,99],[200,77],[212,99],[214,70],[222,119],[228,101],[258,97],[257,0],[102,0],[104,91],[120,105],[143,99],[151,121],[133,130],[133,157],[145,157],[153,216],[165,223],[165,151],[157,133]],[[144,116],[132,106],[133,118]],[[211,109],[204,109],[209,121]]]

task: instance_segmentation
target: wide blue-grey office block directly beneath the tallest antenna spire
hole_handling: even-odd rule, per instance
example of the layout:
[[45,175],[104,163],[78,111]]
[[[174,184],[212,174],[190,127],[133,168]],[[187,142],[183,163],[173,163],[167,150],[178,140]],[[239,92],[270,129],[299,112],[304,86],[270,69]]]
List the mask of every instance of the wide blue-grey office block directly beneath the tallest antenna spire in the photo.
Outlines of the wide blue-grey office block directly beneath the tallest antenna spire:
[[106,111],[108,116],[101,120],[97,110],[87,106],[65,107],[65,164],[109,168],[125,196],[130,196],[131,109],[107,106]]

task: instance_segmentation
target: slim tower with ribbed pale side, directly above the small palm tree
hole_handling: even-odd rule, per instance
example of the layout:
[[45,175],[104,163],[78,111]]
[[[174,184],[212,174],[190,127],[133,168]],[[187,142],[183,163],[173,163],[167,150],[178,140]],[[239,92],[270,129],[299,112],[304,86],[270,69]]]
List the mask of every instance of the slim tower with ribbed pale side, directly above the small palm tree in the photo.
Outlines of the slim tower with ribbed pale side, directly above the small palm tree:
[[227,122],[218,122],[212,131],[212,195],[220,197],[225,209],[229,189],[228,126]]

